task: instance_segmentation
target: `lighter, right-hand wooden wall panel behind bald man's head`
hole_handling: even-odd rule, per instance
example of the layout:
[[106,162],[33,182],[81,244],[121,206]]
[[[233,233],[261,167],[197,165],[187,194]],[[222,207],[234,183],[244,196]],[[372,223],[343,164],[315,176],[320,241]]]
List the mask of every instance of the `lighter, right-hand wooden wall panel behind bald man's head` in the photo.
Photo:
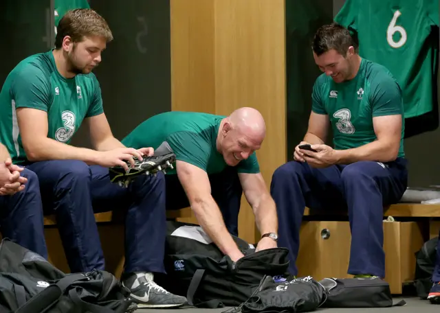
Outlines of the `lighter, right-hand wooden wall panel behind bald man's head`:
[[[284,0],[214,1],[215,113],[241,106],[261,112],[267,137],[257,156],[269,188],[286,161]],[[239,233],[246,240],[260,237],[244,196]]]

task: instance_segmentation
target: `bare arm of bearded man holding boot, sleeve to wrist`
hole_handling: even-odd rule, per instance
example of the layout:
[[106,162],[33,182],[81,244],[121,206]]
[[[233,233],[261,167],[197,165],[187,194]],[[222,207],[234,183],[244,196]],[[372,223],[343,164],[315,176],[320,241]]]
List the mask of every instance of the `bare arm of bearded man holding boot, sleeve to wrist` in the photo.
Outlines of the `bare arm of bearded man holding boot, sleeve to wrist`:
[[30,161],[74,159],[95,164],[98,152],[69,146],[47,138],[47,113],[36,108],[17,108],[21,141]]

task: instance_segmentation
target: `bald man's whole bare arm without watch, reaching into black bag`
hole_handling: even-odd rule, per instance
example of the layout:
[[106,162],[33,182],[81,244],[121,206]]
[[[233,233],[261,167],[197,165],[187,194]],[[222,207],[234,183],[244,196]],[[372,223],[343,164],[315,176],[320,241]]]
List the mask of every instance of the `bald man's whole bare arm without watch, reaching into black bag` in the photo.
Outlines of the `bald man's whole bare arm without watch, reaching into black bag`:
[[195,165],[179,160],[176,161],[176,170],[201,228],[206,231],[221,252],[229,255],[233,261],[243,257],[225,227],[217,203],[211,196],[208,174]]

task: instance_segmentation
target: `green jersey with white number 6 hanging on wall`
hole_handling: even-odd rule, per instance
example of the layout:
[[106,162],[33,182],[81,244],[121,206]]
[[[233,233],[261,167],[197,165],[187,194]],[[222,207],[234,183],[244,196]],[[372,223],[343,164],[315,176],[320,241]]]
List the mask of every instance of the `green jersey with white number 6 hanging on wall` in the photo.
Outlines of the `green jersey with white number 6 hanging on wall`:
[[439,48],[432,29],[439,25],[439,1],[346,0],[335,21],[358,35],[360,56],[393,73],[406,118],[432,111]]

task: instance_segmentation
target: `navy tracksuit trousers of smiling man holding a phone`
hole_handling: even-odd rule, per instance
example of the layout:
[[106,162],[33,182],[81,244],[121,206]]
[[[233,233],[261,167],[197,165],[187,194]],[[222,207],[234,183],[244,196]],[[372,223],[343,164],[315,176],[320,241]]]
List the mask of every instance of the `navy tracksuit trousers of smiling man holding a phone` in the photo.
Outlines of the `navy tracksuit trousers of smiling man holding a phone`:
[[405,159],[323,169],[291,161],[278,167],[270,191],[278,212],[278,246],[289,248],[290,273],[298,274],[295,262],[305,207],[324,211],[342,207],[348,209],[351,229],[348,273],[385,277],[383,208],[399,202],[407,180]]

